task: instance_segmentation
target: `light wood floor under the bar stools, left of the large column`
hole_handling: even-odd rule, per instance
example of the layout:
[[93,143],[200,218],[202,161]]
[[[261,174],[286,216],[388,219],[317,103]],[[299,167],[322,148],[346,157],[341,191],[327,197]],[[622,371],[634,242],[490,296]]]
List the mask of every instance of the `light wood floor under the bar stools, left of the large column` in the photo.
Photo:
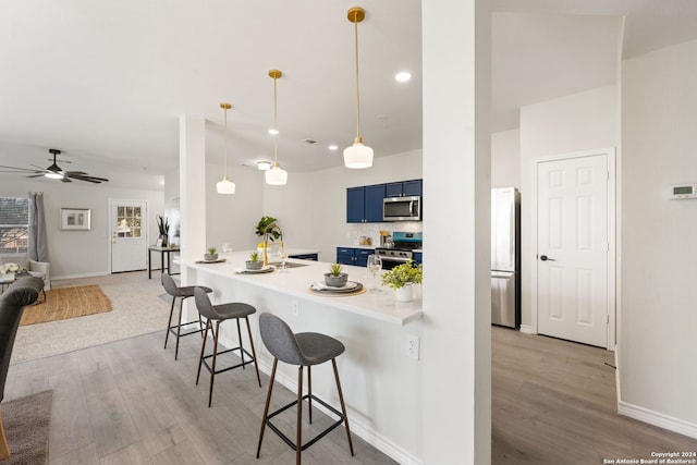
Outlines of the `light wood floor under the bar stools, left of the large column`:
[[[295,452],[268,428],[255,457],[267,376],[259,388],[249,367],[218,375],[208,408],[207,371],[195,386],[200,339],[184,338],[174,362],[174,344],[162,350],[163,338],[162,331],[11,366],[5,401],[53,390],[50,465],[295,463]],[[271,408],[293,399],[277,384]],[[294,437],[295,411],[288,412],[277,418]],[[313,419],[305,438],[328,423],[318,411]],[[303,463],[395,464],[355,435],[353,443],[355,457],[337,428],[303,453]]]

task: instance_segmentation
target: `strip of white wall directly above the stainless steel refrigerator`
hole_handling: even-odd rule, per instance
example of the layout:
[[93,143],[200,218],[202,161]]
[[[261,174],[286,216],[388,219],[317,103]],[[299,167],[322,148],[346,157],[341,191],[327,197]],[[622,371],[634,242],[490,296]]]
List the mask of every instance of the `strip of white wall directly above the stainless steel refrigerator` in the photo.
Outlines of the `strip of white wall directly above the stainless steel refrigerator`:
[[491,134],[491,187],[521,188],[521,130]]

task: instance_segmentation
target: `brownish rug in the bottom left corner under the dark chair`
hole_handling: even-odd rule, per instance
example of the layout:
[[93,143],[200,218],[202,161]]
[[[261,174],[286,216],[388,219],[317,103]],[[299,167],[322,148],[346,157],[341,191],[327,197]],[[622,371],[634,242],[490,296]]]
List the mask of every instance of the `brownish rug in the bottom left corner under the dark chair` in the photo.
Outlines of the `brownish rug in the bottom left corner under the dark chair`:
[[10,458],[0,465],[45,465],[51,426],[53,391],[44,391],[2,403],[4,433]]

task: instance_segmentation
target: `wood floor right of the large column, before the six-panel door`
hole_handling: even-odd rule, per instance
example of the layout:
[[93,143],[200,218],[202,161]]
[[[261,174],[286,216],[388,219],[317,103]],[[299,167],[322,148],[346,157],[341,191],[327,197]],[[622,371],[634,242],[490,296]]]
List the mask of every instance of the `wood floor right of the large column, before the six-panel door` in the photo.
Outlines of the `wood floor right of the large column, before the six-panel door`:
[[612,352],[496,327],[492,341],[493,465],[697,451],[696,439],[616,414]]

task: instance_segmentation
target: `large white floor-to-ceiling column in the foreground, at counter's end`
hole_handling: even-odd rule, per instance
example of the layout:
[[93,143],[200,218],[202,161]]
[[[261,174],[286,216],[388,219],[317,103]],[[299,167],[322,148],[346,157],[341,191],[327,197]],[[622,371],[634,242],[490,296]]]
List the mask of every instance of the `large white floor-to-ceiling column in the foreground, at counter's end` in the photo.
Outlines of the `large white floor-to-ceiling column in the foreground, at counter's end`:
[[423,2],[426,464],[491,463],[490,27],[486,0]]

